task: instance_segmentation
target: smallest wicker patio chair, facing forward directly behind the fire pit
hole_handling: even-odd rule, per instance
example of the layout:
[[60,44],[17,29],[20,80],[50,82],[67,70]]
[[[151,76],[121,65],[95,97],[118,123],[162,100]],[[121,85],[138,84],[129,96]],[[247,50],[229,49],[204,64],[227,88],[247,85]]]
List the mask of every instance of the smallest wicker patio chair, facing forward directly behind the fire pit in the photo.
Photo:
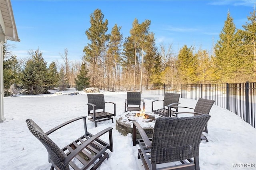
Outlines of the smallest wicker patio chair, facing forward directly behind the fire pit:
[[124,101],[124,112],[141,111],[141,101],[143,103],[143,110],[145,109],[145,102],[140,98],[140,92],[127,92],[127,97]]

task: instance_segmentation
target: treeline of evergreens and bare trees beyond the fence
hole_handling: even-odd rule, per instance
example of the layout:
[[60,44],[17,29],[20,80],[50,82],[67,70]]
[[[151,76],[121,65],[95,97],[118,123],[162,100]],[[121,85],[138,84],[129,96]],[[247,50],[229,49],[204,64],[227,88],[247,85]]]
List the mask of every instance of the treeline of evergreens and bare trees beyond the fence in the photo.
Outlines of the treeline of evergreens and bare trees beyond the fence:
[[117,24],[108,31],[108,20],[96,9],[90,14],[90,28],[85,32],[82,61],[70,61],[68,49],[49,66],[39,49],[28,51],[28,59],[12,55],[12,45],[4,44],[4,86],[12,83],[38,86],[116,86],[142,87],[149,84],[236,83],[256,81],[256,15],[236,29],[228,12],[219,40],[210,53],[184,45],[178,55],[172,45],[156,47],[150,20],[132,23],[130,36],[123,38]]

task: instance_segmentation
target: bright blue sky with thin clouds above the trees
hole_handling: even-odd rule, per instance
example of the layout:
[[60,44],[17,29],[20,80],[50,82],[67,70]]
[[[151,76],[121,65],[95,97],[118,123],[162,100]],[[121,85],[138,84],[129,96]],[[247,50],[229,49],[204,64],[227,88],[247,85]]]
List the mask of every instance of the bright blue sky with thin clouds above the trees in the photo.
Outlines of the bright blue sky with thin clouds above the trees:
[[28,57],[30,49],[39,48],[44,59],[62,61],[60,53],[68,49],[70,60],[81,60],[82,51],[90,43],[85,31],[90,28],[90,14],[100,9],[108,20],[108,32],[121,26],[123,37],[130,36],[135,18],[139,23],[151,20],[150,31],[156,45],[172,44],[174,54],[183,45],[200,47],[209,52],[227,19],[228,11],[236,28],[242,29],[253,12],[254,1],[87,1],[87,0],[11,0],[20,42],[11,42],[14,55]]

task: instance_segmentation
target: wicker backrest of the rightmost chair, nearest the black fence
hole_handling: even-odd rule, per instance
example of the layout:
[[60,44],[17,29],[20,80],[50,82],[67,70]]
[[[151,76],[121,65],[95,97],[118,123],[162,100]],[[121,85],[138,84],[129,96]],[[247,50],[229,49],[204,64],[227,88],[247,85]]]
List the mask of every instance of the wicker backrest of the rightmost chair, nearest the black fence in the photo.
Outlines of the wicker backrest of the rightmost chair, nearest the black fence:
[[200,99],[198,99],[198,101],[196,103],[194,112],[202,113],[202,114],[209,114],[214,102],[215,102],[214,100],[200,98]]

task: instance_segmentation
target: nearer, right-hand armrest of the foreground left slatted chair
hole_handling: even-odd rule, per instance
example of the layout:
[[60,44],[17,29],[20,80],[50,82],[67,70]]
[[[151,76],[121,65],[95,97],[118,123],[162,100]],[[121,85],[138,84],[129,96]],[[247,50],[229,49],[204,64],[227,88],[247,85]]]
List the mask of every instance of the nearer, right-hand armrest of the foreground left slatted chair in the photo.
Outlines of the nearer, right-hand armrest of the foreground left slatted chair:
[[[112,127],[108,127],[100,132],[98,132],[97,134],[95,134],[94,136],[92,136],[90,139],[86,140],[83,144],[81,144],[80,146],[78,146],[76,148],[76,150],[74,152],[71,152],[64,160],[63,160],[63,164],[64,166],[68,165],[68,163],[79,153],[81,152],[86,146],[88,146],[90,143],[92,143],[94,140],[98,139],[100,136],[102,136],[103,134],[105,134],[106,132],[111,131],[112,133]],[[112,141],[112,139],[109,139],[110,141]],[[113,152],[113,150],[111,151]]]

